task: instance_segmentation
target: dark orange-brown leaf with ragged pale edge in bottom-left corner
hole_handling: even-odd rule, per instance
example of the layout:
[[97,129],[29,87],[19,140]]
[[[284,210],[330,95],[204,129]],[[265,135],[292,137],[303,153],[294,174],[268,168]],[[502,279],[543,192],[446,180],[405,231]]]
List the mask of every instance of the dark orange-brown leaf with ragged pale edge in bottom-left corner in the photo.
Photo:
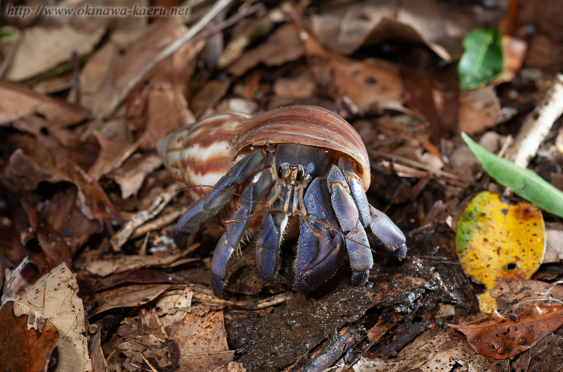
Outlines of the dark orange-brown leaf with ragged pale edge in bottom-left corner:
[[0,370],[47,371],[59,331],[41,313],[19,302],[0,309]]

